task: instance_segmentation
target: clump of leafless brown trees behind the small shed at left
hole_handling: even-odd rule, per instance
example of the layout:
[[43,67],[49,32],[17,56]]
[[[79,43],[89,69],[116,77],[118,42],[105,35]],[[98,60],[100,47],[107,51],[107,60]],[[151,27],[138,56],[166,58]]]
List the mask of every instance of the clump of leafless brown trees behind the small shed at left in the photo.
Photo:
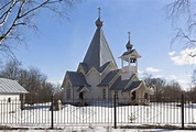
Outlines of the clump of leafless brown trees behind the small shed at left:
[[28,103],[51,101],[51,95],[56,87],[47,81],[47,76],[36,67],[24,69],[21,66],[14,61],[9,61],[0,69],[0,77],[18,80],[29,91]]

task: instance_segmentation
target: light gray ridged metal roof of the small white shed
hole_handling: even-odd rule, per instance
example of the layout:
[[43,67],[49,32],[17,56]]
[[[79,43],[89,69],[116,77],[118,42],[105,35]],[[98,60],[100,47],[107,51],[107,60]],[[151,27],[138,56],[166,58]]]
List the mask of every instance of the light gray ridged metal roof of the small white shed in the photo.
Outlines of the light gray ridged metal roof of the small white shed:
[[0,95],[2,94],[28,94],[15,80],[0,78]]

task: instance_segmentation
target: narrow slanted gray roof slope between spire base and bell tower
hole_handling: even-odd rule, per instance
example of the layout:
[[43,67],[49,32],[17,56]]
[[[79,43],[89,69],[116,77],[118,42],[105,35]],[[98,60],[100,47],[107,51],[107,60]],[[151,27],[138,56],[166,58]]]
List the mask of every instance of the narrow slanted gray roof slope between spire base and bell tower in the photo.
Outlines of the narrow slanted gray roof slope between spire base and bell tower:
[[109,82],[113,79],[113,77],[119,73],[120,69],[111,70],[98,86],[108,86]]

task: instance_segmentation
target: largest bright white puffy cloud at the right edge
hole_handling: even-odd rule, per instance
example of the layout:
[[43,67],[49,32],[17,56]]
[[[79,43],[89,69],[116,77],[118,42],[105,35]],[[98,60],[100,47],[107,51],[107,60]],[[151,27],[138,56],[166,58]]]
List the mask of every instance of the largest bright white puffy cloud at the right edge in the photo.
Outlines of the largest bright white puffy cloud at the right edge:
[[171,52],[168,53],[171,59],[175,65],[192,65],[196,64],[196,47],[195,48],[186,48],[179,53]]

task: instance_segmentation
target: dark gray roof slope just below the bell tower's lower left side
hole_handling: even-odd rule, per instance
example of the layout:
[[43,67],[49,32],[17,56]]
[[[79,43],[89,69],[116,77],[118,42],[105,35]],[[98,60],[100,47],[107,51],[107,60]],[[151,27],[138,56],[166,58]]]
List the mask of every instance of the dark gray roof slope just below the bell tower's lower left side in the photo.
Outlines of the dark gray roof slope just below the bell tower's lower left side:
[[128,85],[130,79],[121,80],[121,76],[117,78],[117,80],[112,84],[110,87],[110,90],[123,90],[126,86]]

